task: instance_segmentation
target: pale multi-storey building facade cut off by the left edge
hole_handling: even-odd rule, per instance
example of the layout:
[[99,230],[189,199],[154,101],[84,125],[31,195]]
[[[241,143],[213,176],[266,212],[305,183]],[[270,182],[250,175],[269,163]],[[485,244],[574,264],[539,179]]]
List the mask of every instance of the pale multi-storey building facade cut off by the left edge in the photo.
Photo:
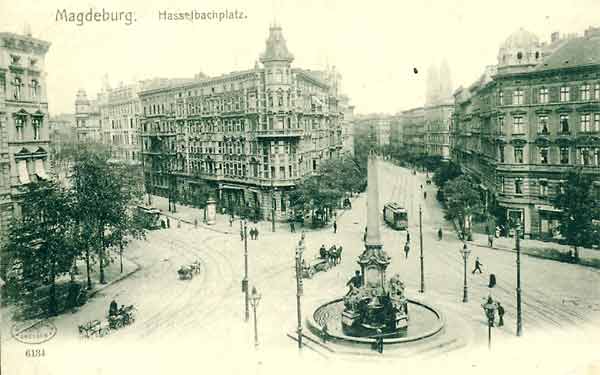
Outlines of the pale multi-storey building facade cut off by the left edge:
[[49,47],[31,34],[0,33],[0,238],[20,214],[23,186],[48,178]]

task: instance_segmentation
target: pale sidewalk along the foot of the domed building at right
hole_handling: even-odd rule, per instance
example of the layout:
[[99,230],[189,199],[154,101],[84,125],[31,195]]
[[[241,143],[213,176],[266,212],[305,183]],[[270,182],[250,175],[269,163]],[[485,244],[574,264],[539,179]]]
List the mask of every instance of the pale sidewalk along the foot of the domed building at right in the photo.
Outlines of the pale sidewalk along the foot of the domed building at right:
[[[473,233],[473,241],[470,241],[469,243],[475,246],[489,248],[488,236],[485,234]],[[572,247],[570,246],[532,239],[522,239],[520,240],[520,244],[522,254],[570,263],[568,262],[569,252],[572,250]],[[495,250],[516,252],[515,239],[510,237],[494,238],[494,245],[492,248]],[[578,264],[600,268],[600,250],[580,247]]]

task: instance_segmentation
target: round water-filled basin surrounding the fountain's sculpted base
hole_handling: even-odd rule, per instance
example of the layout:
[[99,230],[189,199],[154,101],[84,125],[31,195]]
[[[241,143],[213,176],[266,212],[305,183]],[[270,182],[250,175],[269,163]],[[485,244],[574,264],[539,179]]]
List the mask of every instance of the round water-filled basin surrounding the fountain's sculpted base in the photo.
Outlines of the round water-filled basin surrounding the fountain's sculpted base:
[[[410,319],[408,327],[399,328],[395,332],[383,335],[386,344],[399,344],[414,342],[431,337],[444,328],[444,318],[435,308],[421,301],[408,299],[408,311]],[[322,327],[327,323],[327,335],[329,339],[337,339],[346,342],[368,343],[376,341],[370,330],[356,331],[352,335],[344,332],[342,327],[342,312],[344,311],[344,300],[342,298],[327,302],[315,309],[308,319],[309,329],[321,336]]]

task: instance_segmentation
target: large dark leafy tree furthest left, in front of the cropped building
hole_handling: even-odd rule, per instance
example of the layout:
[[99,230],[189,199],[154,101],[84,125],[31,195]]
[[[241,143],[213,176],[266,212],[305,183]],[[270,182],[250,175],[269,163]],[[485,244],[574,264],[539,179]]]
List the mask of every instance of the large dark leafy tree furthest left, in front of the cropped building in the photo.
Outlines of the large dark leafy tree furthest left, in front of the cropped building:
[[21,201],[22,216],[9,227],[6,251],[9,293],[25,306],[40,301],[36,292],[48,287],[46,313],[57,313],[57,278],[71,269],[77,256],[73,246],[73,202],[53,181],[30,184]]

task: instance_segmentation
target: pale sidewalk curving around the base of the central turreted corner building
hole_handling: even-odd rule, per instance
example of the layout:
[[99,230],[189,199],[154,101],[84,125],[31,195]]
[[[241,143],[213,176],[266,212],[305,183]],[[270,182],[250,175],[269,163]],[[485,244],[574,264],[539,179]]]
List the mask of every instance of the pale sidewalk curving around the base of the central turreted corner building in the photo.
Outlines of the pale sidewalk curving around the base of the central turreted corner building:
[[[352,203],[356,199],[358,199],[361,195],[356,195],[352,197],[350,200]],[[161,214],[165,217],[170,218],[171,227],[177,226],[177,220],[181,220],[184,223],[194,225],[194,219],[198,221],[198,227],[204,228],[208,230],[212,230],[215,232],[225,233],[225,234],[239,234],[240,232],[240,218],[239,216],[234,217],[233,225],[229,225],[229,215],[225,214],[217,214],[216,223],[214,225],[207,225],[203,222],[204,219],[204,210],[202,208],[194,208],[189,206],[184,206],[182,204],[177,204],[176,209],[177,212],[169,212],[169,201],[167,198],[153,195],[152,196],[152,207],[160,210]],[[344,214],[349,210],[340,209],[337,211],[336,218],[341,218]],[[300,223],[296,223],[296,232],[304,230],[306,232],[320,231],[326,228],[330,228],[333,225],[333,222],[321,228],[309,228],[303,227]],[[259,235],[273,233],[272,231],[272,223],[269,220],[263,220],[259,222],[248,221],[247,224],[248,230],[250,228],[257,228]],[[283,222],[275,222],[275,232],[290,232],[290,224]]]

